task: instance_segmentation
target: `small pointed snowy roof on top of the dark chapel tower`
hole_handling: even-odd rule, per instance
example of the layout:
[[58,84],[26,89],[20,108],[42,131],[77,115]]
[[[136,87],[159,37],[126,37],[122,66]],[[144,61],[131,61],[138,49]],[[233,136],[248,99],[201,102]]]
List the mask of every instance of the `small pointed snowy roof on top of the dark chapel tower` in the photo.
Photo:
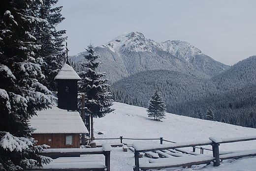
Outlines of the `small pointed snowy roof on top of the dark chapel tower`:
[[81,80],[75,70],[68,64],[64,63],[62,69],[59,71],[54,80]]

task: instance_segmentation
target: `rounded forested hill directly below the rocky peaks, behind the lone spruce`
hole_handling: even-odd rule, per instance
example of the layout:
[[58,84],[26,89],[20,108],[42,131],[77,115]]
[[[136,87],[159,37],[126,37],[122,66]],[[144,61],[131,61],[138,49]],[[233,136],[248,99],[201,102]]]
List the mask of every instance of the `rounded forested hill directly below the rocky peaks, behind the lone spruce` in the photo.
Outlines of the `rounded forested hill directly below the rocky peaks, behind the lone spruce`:
[[185,72],[150,70],[117,81],[112,87],[136,97],[144,107],[147,107],[152,94],[158,89],[163,95],[168,109],[170,105],[201,97],[207,89],[206,80]]

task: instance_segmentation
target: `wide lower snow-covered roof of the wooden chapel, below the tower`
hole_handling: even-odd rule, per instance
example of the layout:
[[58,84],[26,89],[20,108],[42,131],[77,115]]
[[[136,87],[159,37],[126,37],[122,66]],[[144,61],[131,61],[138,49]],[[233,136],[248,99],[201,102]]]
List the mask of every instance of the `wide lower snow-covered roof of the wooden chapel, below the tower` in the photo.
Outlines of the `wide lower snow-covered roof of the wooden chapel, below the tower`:
[[57,106],[37,112],[30,124],[36,129],[33,134],[88,133],[78,112],[68,112]]

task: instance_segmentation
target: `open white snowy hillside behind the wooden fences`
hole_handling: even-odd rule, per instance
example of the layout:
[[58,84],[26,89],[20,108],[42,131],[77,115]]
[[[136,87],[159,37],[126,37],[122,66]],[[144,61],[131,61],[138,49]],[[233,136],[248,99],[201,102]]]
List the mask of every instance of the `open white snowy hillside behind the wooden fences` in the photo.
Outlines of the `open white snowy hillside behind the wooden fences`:
[[[209,137],[231,138],[255,136],[256,129],[246,128],[217,121],[202,120],[177,114],[166,113],[162,122],[151,120],[146,108],[114,102],[111,114],[95,118],[96,138],[160,138],[173,142],[208,140]],[[158,141],[157,141],[158,142]],[[244,146],[241,149],[256,148]],[[233,145],[228,144],[227,148]]]

